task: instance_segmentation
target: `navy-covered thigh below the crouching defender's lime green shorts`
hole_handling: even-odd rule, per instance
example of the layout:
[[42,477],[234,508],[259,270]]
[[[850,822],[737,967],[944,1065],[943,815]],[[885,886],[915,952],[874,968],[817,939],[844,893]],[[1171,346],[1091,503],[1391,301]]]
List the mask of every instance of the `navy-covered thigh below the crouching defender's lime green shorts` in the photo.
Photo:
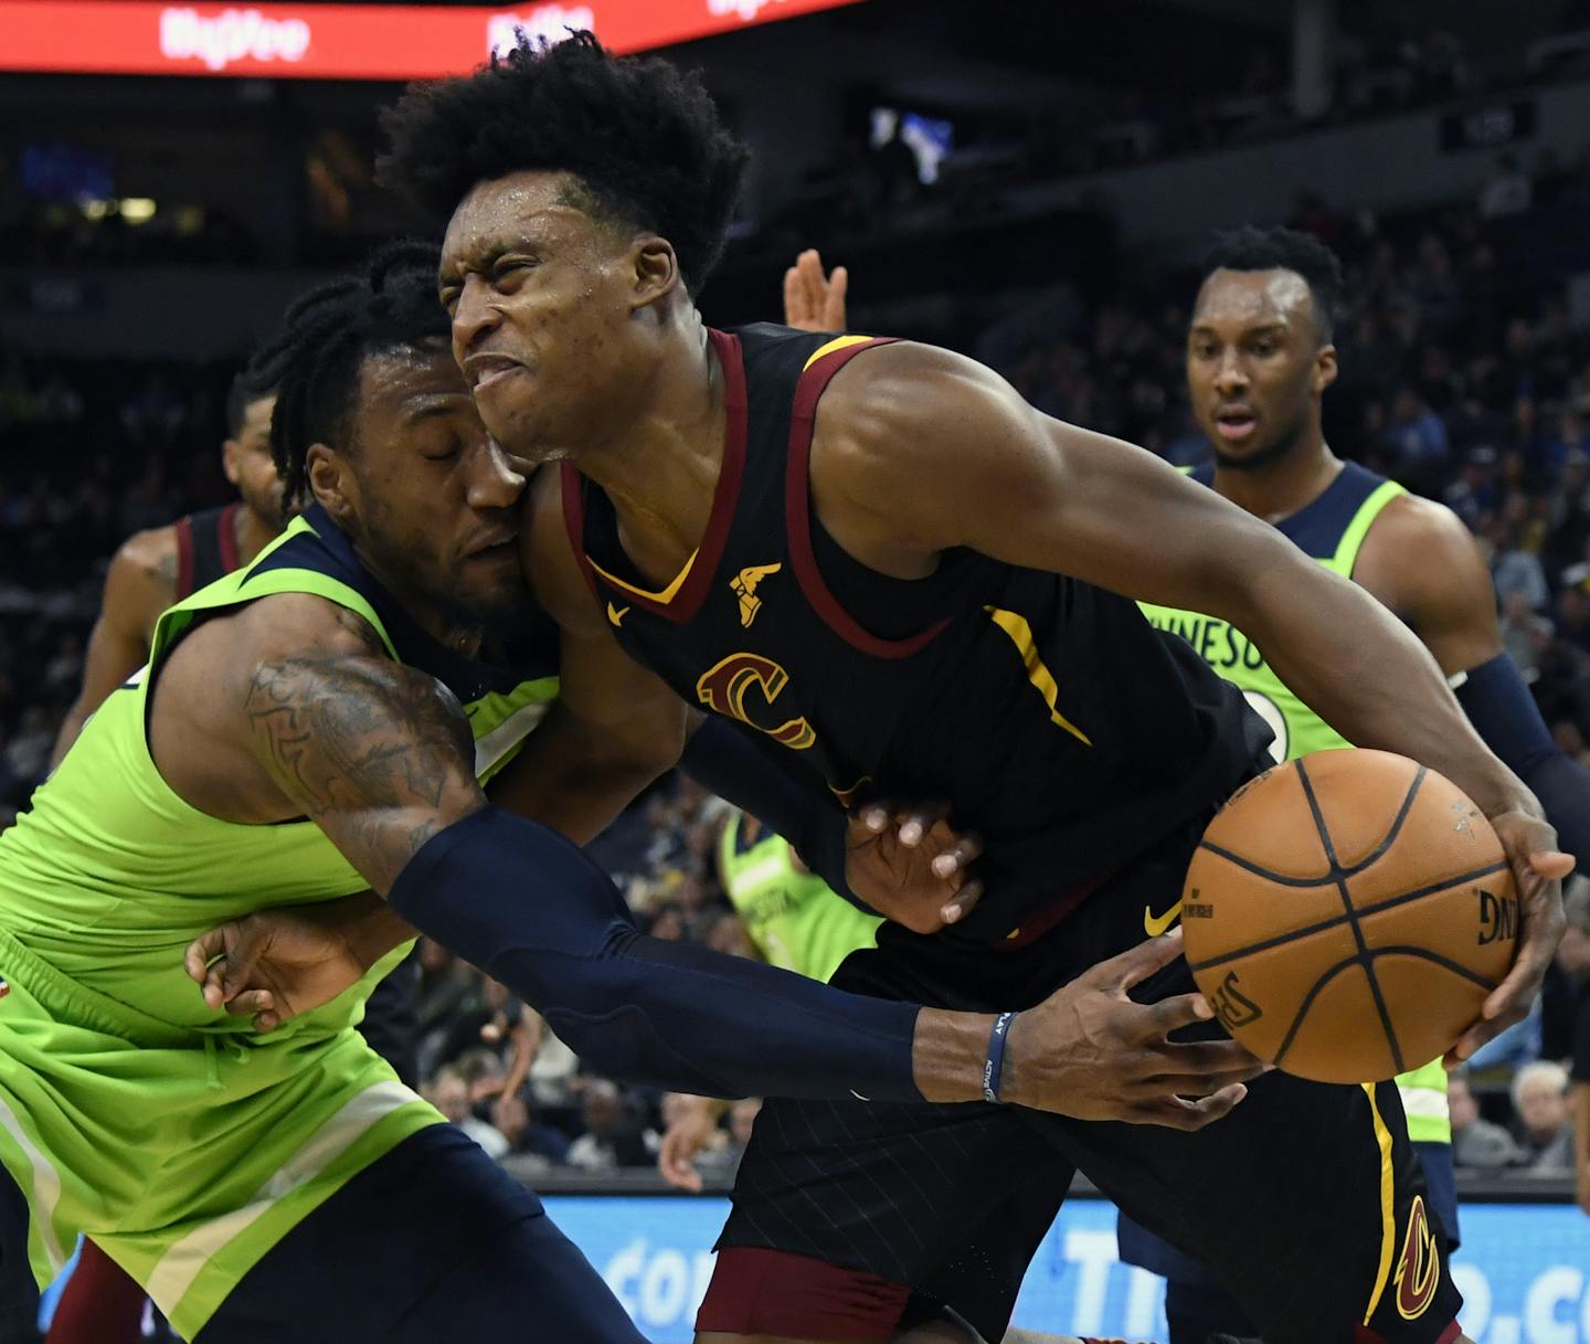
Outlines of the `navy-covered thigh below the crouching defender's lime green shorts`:
[[199,1344],[646,1344],[541,1201],[452,1125],[405,1139],[280,1241]]

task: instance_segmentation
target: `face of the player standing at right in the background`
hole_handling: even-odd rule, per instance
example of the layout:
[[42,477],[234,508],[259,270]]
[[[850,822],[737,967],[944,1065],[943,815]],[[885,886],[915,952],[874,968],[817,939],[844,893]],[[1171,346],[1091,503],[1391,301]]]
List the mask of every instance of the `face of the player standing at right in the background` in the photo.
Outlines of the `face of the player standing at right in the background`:
[[1188,394],[1221,466],[1256,468],[1299,441],[1336,382],[1309,282],[1294,270],[1216,270],[1188,329]]

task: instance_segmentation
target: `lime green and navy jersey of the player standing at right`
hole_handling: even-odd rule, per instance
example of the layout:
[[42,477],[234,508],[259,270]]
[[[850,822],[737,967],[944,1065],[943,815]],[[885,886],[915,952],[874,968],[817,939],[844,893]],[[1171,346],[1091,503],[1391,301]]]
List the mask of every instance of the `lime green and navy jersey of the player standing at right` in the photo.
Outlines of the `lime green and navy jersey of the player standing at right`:
[[[1194,472],[1205,485],[1212,472]],[[1407,491],[1394,480],[1375,476],[1356,463],[1347,463],[1324,493],[1277,526],[1302,550],[1334,569],[1344,579],[1353,577],[1353,563],[1369,534],[1369,525],[1380,511]],[[1272,751],[1277,760],[1291,760],[1310,751],[1352,746],[1336,728],[1302,703],[1275,676],[1258,646],[1224,620],[1196,611],[1142,603],[1143,614],[1159,627],[1186,639],[1215,671],[1239,687],[1248,703],[1275,732]],[[1398,1077],[1407,1132],[1415,1142],[1450,1144],[1452,1123],[1447,1115],[1447,1074],[1441,1061]]]

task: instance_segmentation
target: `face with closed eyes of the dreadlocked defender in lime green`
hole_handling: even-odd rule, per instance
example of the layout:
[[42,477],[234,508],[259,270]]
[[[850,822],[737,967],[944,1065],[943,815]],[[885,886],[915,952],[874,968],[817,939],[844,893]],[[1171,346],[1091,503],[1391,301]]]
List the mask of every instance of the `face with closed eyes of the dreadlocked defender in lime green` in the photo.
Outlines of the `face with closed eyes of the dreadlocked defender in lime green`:
[[480,423],[445,344],[364,359],[351,439],[339,455],[347,525],[370,568],[399,596],[469,623],[520,611],[525,477]]

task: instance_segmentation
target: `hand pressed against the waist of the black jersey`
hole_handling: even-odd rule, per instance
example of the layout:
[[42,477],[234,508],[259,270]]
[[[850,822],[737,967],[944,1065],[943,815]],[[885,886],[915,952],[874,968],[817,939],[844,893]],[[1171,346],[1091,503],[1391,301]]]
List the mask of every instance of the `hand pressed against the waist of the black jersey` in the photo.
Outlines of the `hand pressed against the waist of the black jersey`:
[[983,895],[971,873],[983,841],[949,824],[946,803],[867,803],[851,816],[846,843],[851,891],[913,934],[964,919]]

